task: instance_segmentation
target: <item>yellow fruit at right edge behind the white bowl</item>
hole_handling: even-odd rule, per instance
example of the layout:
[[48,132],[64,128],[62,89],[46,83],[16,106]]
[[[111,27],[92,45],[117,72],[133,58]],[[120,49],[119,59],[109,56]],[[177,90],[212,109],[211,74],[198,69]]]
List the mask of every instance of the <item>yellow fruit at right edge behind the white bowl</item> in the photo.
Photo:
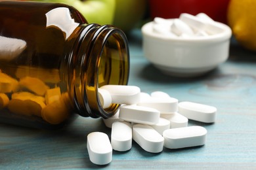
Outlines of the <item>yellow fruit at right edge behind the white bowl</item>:
[[230,0],[227,16],[236,40],[245,48],[256,51],[256,1]]

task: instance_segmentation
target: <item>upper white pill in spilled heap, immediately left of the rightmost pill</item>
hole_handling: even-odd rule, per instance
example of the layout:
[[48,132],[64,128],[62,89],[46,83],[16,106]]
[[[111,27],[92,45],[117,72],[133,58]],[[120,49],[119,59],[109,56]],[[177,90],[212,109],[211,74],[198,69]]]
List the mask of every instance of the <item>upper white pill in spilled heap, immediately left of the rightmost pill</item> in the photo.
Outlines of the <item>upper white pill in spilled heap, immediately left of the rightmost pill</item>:
[[158,98],[150,97],[144,101],[137,103],[138,106],[151,107],[162,112],[177,112],[178,109],[178,99],[168,97],[168,98]]

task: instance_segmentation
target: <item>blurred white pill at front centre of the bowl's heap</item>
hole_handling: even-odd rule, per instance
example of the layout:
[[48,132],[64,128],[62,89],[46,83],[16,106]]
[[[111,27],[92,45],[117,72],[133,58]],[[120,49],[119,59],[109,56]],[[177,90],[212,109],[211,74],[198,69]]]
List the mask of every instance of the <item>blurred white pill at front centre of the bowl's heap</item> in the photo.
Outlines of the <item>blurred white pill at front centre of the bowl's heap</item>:
[[182,34],[194,35],[193,30],[185,22],[179,19],[174,19],[171,25],[171,31],[176,35],[180,36]]

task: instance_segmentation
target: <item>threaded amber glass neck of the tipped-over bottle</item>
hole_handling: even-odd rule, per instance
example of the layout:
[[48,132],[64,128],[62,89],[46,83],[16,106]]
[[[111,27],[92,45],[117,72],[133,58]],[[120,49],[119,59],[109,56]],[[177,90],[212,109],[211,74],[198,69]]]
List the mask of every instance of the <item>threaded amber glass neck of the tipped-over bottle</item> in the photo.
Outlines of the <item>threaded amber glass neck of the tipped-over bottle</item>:
[[119,105],[103,109],[98,88],[106,84],[126,85],[129,48],[125,34],[111,25],[80,25],[72,52],[65,56],[67,91],[81,116],[112,116]]

